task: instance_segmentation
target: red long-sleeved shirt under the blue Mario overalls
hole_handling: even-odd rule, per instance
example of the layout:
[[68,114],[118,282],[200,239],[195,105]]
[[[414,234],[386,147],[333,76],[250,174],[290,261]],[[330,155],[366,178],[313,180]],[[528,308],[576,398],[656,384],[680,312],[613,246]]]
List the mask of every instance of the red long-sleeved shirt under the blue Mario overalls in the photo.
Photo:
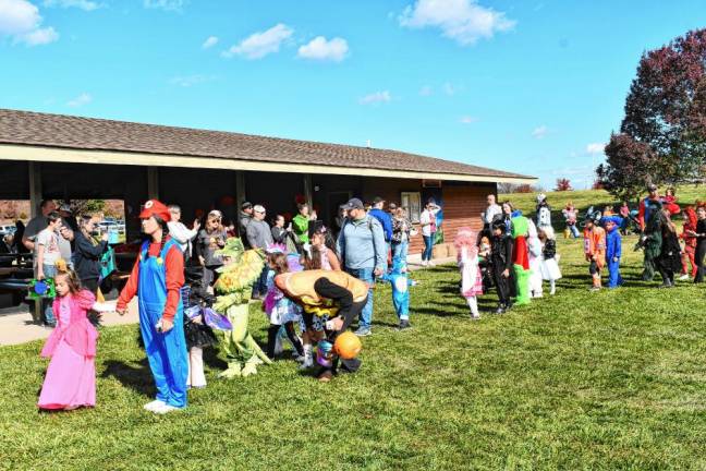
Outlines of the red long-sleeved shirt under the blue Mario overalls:
[[[159,251],[161,249],[160,242],[150,242],[148,253],[149,256],[159,256]],[[167,282],[167,302],[165,303],[165,312],[162,317],[172,321],[176,314],[176,307],[179,306],[179,297],[182,286],[184,286],[184,255],[179,250],[178,245],[172,245],[171,249],[167,252],[167,257],[165,259],[165,270],[166,270],[166,282]],[[125,309],[127,303],[135,297],[139,295],[137,292],[139,281],[139,258],[135,262],[133,266],[132,274],[127,279],[125,288],[120,292],[120,298],[118,299],[117,309]]]

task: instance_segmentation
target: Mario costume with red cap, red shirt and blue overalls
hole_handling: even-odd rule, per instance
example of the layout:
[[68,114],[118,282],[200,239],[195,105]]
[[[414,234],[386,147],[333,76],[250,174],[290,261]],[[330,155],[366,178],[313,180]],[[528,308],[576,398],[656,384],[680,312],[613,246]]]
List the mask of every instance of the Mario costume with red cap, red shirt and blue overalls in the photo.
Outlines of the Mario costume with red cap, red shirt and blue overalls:
[[[165,413],[186,407],[188,352],[180,293],[184,285],[184,255],[166,230],[167,222],[171,220],[167,206],[157,200],[145,203],[139,219],[153,216],[163,221],[162,240],[143,242],[117,309],[124,311],[130,300],[137,295],[139,331],[157,387],[156,400],[146,404],[145,409]],[[162,321],[171,321],[173,328],[162,331]]]

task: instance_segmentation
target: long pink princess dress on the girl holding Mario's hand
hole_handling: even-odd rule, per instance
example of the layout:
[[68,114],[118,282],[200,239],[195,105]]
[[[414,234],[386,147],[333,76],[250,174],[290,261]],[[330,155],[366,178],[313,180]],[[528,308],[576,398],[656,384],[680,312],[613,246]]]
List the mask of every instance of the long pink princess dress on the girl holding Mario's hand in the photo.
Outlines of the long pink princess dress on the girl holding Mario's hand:
[[41,349],[51,358],[41,386],[40,409],[96,406],[96,340],[98,331],[86,317],[96,298],[89,291],[57,298],[57,327]]

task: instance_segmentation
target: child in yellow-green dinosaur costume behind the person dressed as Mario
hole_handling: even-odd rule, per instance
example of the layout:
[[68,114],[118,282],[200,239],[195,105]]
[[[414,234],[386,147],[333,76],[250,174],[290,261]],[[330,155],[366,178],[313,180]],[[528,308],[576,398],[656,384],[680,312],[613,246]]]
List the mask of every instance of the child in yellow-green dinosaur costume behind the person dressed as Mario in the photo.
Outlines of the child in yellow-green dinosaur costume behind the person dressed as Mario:
[[249,376],[257,373],[258,364],[272,362],[247,329],[247,304],[253,283],[265,266],[264,254],[257,249],[246,251],[240,238],[229,238],[226,246],[216,254],[223,257],[223,266],[218,268],[220,277],[214,285],[218,294],[214,309],[226,314],[233,325],[232,330],[223,331],[223,349],[229,364],[219,376]]

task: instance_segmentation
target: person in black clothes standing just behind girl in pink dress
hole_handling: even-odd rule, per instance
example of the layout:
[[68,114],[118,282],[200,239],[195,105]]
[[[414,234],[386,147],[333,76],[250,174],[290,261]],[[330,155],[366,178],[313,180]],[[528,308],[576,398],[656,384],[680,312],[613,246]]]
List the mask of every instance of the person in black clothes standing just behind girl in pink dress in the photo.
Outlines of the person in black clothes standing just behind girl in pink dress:
[[74,268],[81,280],[81,287],[97,295],[100,257],[108,250],[108,232],[104,231],[100,242],[98,242],[92,235],[95,227],[96,218],[93,215],[81,217],[80,229],[75,232],[74,238]]

